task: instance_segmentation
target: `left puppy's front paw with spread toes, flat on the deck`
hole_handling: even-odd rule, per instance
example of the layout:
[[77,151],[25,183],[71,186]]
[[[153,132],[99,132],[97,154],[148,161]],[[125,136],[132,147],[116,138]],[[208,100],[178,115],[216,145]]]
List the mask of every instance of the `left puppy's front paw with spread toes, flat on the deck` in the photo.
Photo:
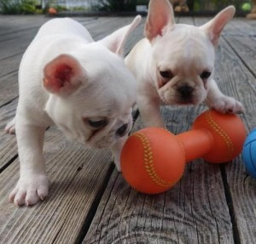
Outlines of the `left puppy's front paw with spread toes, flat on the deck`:
[[9,201],[13,201],[16,206],[31,206],[48,195],[49,179],[46,175],[27,175],[19,179],[15,189],[9,195]]

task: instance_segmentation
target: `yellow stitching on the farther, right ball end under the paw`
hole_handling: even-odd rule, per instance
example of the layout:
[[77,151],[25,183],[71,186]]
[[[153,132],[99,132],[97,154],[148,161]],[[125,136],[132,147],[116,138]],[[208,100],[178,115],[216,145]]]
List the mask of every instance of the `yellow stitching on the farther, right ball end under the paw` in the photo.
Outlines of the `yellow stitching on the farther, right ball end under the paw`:
[[224,142],[228,148],[228,160],[230,160],[234,152],[234,145],[232,143],[232,140],[230,139],[229,135],[225,133],[224,130],[218,125],[218,123],[213,121],[211,113],[209,111],[207,112],[206,116],[208,124],[215,130],[215,132],[218,133],[220,137],[224,139]]

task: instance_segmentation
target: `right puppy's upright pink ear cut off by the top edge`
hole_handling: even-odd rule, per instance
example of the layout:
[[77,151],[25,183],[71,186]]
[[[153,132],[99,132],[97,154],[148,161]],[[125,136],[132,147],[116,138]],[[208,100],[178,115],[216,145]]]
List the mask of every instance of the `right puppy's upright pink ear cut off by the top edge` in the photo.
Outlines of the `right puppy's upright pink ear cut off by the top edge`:
[[168,0],[150,0],[144,35],[149,41],[163,35],[163,28],[174,26],[172,5]]

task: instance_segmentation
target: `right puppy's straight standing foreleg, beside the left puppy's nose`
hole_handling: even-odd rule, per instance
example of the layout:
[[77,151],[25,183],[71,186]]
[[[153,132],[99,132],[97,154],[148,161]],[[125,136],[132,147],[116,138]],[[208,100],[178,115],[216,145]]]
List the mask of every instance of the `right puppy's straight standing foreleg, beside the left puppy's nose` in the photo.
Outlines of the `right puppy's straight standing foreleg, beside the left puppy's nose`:
[[160,103],[157,100],[139,95],[137,97],[137,106],[143,117],[145,127],[166,128],[160,114]]

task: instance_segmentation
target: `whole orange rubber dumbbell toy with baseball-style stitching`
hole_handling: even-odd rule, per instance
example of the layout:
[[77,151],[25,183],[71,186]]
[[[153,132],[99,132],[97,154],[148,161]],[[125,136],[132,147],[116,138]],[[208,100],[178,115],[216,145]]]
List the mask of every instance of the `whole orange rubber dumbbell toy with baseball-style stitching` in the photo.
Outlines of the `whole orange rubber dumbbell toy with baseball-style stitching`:
[[203,157],[228,162],[241,153],[246,129],[234,114],[206,111],[189,132],[177,136],[164,128],[143,128],[125,142],[121,153],[124,178],[143,193],[168,190],[182,177],[185,162]]

